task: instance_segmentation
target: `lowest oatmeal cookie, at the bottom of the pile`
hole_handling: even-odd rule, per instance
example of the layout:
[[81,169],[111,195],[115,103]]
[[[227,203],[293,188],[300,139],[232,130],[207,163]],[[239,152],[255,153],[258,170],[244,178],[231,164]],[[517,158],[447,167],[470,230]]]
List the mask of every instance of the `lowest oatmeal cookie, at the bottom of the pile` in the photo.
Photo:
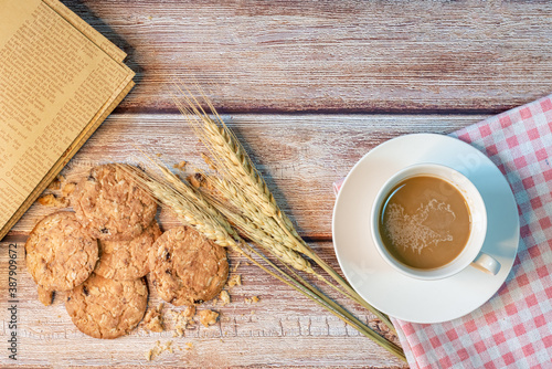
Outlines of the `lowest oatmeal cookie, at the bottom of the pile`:
[[73,324],[95,338],[117,338],[140,323],[148,305],[144,278],[113,281],[95,273],[71,291],[65,301]]

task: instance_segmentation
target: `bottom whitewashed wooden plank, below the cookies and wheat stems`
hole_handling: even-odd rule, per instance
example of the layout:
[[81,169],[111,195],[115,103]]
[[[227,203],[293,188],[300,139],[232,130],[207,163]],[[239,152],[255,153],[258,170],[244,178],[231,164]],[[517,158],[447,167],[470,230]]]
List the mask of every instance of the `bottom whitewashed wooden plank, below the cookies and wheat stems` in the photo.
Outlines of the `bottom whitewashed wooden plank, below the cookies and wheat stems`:
[[[243,286],[230,289],[232,303],[224,307],[204,304],[200,308],[212,308],[221,313],[220,321],[210,328],[199,324],[185,331],[184,337],[173,337],[173,321],[169,310],[181,312],[182,307],[167,304],[163,313],[168,330],[151,333],[138,328],[129,336],[115,340],[100,340],[85,336],[72,324],[65,312],[62,294],[54,304],[42,306],[38,301],[34,282],[25,271],[24,242],[18,243],[18,303],[0,301],[0,339],[6,342],[9,328],[8,307],[17,305],[18,365],[29,367],[66,368],[71,366],[125,366],[138,367],[151,363],[162,368],[173,367],[240,367],[256,368],[285,366],[302,368],[404,368],[404,363],[347,327],[310,299],[264,274],[242,260],[237,274]],[[317,243],[314,247],[337,267],[331,243]],[[7,294],[8,244],[0,243],[0,285]],[[231,254],[231,268],[241,260]],[[161,299],[150,285],[149,306]],[[330,294],[335,296],[333,294]],[[245,298],[258,296],[256,304],[246,304]],[[338,299],[342,302],[342,299]],[[9,305],[10,304],[10,305]],[[373,316],[354,304],[346,304],[364,321]],[[163,352],[151,362],[145,352],[156,341],[173,341],[174,352]],[[185,349],[185,344],[193,347]],[[6,347],[6,344],[2,345]],[[181,348],[181,350],[179,349]],[[13,361],[8,355],[0,356],[0,366]]]

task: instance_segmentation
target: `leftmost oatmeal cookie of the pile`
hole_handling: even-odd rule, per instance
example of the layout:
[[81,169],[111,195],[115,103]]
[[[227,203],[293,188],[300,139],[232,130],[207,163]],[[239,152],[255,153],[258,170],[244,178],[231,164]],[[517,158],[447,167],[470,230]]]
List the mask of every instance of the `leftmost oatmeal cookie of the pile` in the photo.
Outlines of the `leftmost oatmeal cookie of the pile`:
[[97,241],[71,211],[55,212],[36,223],[25,251],[26,268],[44,291],[68,291],[78,286],[98,260]]

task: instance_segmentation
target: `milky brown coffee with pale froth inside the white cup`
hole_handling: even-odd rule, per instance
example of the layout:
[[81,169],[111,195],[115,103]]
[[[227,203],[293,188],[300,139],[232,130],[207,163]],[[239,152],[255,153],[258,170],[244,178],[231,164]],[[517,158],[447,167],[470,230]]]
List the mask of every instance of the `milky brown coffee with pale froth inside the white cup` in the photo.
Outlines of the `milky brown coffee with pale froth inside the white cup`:
[[383,245],[399,262],[431,270],[455,260],[468,242],[469,208],[460,191],[434,176],[395,184],[379,215]]

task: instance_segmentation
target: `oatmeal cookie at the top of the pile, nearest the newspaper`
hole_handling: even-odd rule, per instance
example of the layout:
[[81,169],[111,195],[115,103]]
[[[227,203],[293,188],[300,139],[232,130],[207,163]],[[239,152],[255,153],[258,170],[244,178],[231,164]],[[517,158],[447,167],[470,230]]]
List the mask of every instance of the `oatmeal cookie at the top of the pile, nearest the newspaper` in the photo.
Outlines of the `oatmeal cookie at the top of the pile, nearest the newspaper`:
[[91,170],[72,193],[76,217],[91,235],[104,241],[130,241],[157,212],[155,199],[114,165]]

